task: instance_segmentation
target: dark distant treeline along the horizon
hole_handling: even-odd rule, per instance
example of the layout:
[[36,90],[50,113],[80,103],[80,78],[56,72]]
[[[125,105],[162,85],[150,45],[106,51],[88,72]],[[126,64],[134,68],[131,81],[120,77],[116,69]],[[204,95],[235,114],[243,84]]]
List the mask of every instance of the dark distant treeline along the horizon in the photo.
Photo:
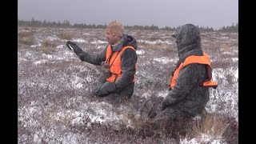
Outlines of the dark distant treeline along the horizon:
[[[71,25],[69,21],[64,20],[63,22],[48,22],[46,20],[38,21],[34,20],[32,18],[30,21],[24,21],[24,20],[18,20],[18,26],[28,26],[28,27],[69,27],[69,28],[87,28],[87,29],[106,29],[106,24],[105,25],[95,25],[95,24],[85,24],[85,23],[80,23],[77,24],[75,23],[74,25]],[[151,26],[124,26],[126,30],[176,30],[178,27],[170,27],[170,26],[165,26],[164,28],[159,28],[158,26],[154,26],[153,24]],[[218,30],[214,30],[212,27],[204,27],[204,26],[198,26],[199,30],[205,31],[205,32],[238,32],[238,23],[232,26],[222,26],[222,28]]]

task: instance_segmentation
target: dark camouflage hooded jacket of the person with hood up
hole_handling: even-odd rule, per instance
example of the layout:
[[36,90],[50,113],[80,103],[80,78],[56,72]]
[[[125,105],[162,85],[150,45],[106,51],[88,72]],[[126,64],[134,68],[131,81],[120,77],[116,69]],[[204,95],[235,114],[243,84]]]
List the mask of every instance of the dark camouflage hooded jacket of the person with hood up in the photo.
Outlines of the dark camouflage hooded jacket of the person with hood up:
[[[196,26],[183,25],[172,36],[178,46],[176,68],[188,56],[202,55],[200,32]],[[169,91],[162,104],[162,113],[171,118],[200,114],[210,98],[209,88],[202,87],[206,78],[206,66],[201,64],[190,64],[180,70],[174,89]]]

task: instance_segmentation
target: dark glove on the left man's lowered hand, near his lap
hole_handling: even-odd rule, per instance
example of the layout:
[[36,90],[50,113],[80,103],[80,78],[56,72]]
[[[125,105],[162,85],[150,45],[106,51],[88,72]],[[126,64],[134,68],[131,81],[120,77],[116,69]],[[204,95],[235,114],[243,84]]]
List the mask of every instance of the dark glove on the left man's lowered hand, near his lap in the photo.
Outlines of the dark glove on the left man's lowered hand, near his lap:
[[114,90],[117,89],[117,86],[115,86],[114,82],[105,82],[101,88],[96,92],[96,95],[103,97],[107,94],[112,93]]

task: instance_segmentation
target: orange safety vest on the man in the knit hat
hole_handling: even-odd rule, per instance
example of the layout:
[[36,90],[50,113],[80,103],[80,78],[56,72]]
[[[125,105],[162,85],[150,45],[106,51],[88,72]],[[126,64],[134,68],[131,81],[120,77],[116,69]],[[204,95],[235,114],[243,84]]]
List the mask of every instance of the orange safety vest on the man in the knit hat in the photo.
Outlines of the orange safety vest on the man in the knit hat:
[[[133,46],[125,46],[122,47],[122,49],[120,51],[114,51],[114,53],[112,54],[112,49],[111,46],[107,46],[106,48],[106,63],[110,66],[110,73],[111,76],[109,78],[106,78],[106,80],[108,82],[115,82],[118,78],[121,77],[122,75],[122,69],[121,69],[121,55],[122,52],[126,49],[134,49]],[[112,56],[111,56],[112,54]],[[111,56],[111,58],[110,58]],[[136,68],[136,65],[135,65]],[[135,74],[134,74],[134,80],[133,82],[135,82]]]

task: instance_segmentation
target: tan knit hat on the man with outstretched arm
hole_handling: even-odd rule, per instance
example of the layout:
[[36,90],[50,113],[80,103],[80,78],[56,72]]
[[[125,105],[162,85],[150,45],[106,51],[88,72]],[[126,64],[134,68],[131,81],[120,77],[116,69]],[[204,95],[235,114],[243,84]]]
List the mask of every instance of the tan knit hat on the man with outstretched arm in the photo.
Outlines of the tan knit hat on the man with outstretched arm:
[[106,27],[106,31],[110,32],[110,34],[117,35],[118,37],[122,37],[124,34],[124,27],[120,22],[110,22],[110,24]]

